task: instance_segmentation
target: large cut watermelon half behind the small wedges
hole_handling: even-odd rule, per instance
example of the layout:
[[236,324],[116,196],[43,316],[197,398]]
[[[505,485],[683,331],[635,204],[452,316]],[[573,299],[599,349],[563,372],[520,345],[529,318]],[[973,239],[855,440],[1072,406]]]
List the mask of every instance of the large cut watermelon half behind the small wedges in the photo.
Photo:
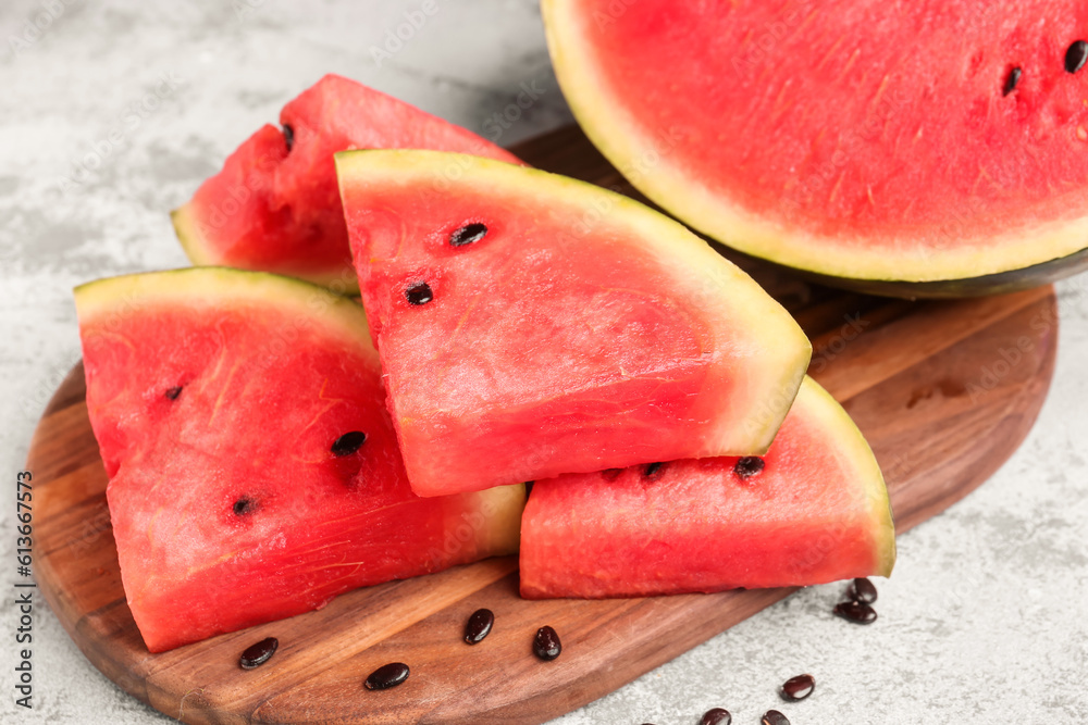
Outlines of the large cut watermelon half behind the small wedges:
[[722,242],[918,296],[1088,265],[1088,3],[542,7],[590,138]]

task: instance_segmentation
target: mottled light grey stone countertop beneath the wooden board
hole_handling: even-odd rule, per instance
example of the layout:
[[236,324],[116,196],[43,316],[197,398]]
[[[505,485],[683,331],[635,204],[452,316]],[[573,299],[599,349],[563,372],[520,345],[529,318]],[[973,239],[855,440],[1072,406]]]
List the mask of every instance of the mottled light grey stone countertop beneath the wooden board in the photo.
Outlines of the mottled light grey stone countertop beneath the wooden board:
[[[79,359],[72,287],[186,265],[166,211],[322,74],[504,145],[570,121],[534,0],[429,1],[433,15],[401,28],[399,42],[391,33],[423,0],[0,4],[4,480],[14,485],[37,417]],[[522,84],[542,89],[539,99],[496,125]],[[1088,376],[1077,372],[1088,359],[1088,278],[1059,289],[1058,370],[1038,424],[982,488],[900,539],[876,624],[836,620],[842,586],[813,587],[555,722],[694,724],[712,707],[734,723],[774,707],[795,725],[1088,722]],[[13,513],[0,507],[5,562]],[[13,588],[3,591],[0,721],[169,721],[95,670],[44,605],[35,707],[17,708],[17,614]],[[816,676],[816,696],[779,703],[776,687],[803,672]]]

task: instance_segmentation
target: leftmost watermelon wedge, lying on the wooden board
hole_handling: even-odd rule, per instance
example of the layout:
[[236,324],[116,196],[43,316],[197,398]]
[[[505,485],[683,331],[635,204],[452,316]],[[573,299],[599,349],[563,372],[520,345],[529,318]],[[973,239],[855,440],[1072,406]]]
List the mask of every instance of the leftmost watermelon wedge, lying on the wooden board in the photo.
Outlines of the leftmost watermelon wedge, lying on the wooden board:
[[522,487],[411,492],[359,304],[212,267],[75,298],[121,576],[150,651],[517,550]]

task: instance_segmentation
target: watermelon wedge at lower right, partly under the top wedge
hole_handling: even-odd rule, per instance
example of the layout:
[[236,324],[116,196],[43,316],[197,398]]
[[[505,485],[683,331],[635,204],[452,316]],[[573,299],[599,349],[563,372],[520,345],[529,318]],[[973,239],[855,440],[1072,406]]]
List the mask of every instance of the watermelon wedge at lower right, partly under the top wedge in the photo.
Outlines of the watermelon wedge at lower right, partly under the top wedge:
[[765,457],[540,480],[521,526],[531,599],[823,584],[894,561],[876,459],[812,378]]

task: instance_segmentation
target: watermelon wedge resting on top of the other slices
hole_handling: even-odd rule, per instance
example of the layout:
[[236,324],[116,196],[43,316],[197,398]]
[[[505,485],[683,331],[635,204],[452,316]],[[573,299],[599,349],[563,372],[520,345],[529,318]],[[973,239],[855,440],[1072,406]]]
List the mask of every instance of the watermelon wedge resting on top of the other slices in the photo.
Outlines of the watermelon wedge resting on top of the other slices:
[[477,157],[336,164],[420,496],[770,443],[808,340],[676,222]]

